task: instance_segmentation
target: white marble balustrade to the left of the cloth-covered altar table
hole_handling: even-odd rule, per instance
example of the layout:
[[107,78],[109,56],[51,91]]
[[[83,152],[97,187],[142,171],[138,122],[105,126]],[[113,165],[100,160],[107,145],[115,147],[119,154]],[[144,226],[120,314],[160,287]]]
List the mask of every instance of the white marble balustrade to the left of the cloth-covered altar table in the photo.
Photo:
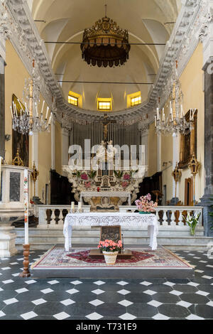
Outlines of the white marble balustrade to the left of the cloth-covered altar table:
[[[70,209],[70,205],[36,205],[35,216],[38,216],[38,227],[62,226]],[[75,210],[77,211],[77,205],[75,205]],[[82,205],[82,210],[90,212],[90,205]]]

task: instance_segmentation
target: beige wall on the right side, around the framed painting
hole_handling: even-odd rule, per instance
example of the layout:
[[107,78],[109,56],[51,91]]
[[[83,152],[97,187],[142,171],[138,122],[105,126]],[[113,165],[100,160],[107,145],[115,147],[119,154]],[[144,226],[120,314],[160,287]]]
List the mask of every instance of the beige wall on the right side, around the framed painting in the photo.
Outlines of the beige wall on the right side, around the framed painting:
[[[180,76],[180,83],[183,92],[183,109],[186,113],[191,108],[198,110],[197,114],[197,160],[202,163],[200,172],[196,177],[195,200],[199,201],[204,193],[204,92],[203,71],[202,71],[202,44],[197,45],[189,63]],[[165,114],[168,114],[168,102],[165,105]],[[163,162],[173,161],[173,137],[162,136],[161,157]],[[163,169],[163,167],[162,167]],[[167,200],[173,198],[173,168],[166,168],[163,171],[163,185],[167,185]],[[190,178],[190,170],[182,169],[180,181],[179,199],[185,200],[185,178]]]

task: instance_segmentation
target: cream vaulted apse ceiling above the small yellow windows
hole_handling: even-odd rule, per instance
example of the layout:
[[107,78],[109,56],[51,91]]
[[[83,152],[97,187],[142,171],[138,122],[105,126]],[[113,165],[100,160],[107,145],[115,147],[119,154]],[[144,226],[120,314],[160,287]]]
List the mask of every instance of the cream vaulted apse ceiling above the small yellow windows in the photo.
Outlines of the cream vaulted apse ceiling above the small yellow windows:
[[[28,0],[43,41],[81,42],[84,28],[104,16],[129,31],[130,43],[166,43],[173,22],[180,11],[181,0]],[[129,60],[117,68],[97,68],[82,60],[79,44],[46,44],[50,62],[58,80],[153,82],[158,72],[164,45],[131,45]],[[142,102],[151,85],[104,85],[62,83],[67,99],[72,90],[83,98],[83,109],[97,110],[97,97],[112,97],[113,111],[126,109],[126,95],[141,91]]]

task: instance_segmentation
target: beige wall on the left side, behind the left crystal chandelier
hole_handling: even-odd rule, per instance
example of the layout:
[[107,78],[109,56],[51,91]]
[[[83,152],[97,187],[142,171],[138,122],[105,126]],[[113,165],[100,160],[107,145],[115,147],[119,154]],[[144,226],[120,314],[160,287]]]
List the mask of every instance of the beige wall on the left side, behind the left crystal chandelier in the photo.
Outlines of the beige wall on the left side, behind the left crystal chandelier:
[[[5,133],[12,134],[11,124],[11,101],[12,95],[15,94],[20,100],[23,99],[23,87],[25,78],[28,79],[29,74],[26,71],[21,59],[18,57],[16,50],[9,41],[6,41],[6,68],[5,68]],[[40,95],[40,104],[38,112],[40,112],[43,97]],[[47,104],[45,104],[45,109]],[[6,141],[6,163],[11,163],[12,157],[12,139]],[[21,152],[20,152],[21,155]],[[33,167],[32,161],[32,137],[29,136],[29,167]],[[51,168],[51,132],[40,132],[38,134],[38,196],[43,200],[43,189],[45,184],[49,183],[49,171]],[[32,187],[33,189],[33,187]],[[31,193],[31,197],[34,194]],[[45,198],[44,198],[45,200]]]

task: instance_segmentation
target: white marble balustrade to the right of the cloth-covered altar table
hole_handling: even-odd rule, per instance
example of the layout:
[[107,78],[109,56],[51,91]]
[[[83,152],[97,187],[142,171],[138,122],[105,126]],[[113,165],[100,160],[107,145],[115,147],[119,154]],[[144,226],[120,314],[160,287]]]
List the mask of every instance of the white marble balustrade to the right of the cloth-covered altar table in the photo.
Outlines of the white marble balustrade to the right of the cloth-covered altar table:
[[[135,212],[135,210],[137,210],[136,205],[119,207],[119,212]],[[200,206],[158,206],[155,211],[159,225],[165,227],[188,227],[184,220],[187,212],[190,212],[190,214],[194,212],[195,215],[201,212],[197,226],[202,227],[202,207]]]

